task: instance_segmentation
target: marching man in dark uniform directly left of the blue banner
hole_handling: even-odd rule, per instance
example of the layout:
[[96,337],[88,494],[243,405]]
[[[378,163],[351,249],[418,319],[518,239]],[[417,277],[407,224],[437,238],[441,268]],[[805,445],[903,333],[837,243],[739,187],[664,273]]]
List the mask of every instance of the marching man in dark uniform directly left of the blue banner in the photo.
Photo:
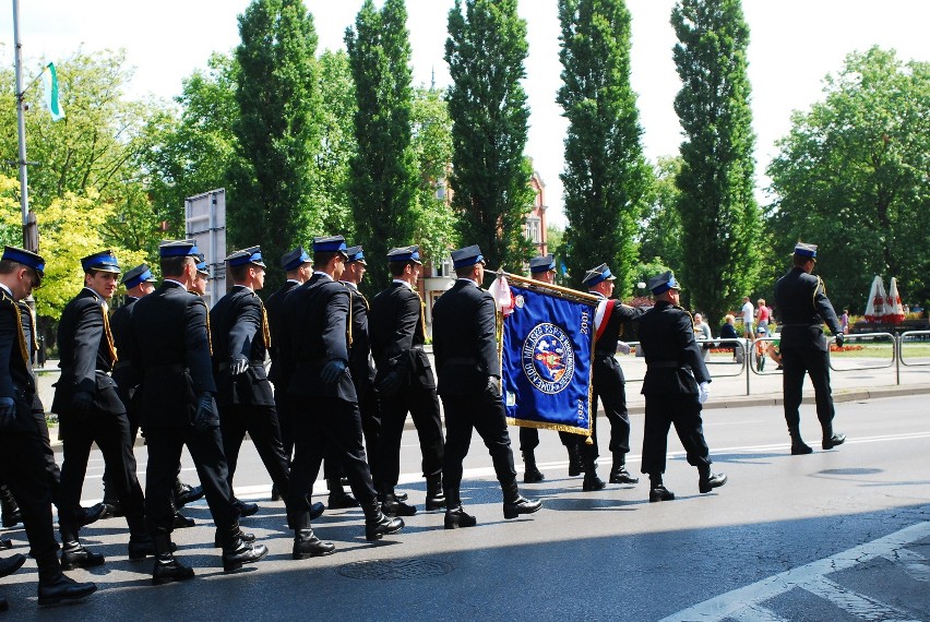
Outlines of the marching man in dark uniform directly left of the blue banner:
[[501,402],[501,364],[494,299],[485,289],[485,258],[477,246],[452,251],[457,279],[433,307],[433,355],[445,411],[445,528],[474,527],[460,495],[462,462],[472,430],[485,441],[503,491],[504,518],[537,512],[542,503],[521,497]]

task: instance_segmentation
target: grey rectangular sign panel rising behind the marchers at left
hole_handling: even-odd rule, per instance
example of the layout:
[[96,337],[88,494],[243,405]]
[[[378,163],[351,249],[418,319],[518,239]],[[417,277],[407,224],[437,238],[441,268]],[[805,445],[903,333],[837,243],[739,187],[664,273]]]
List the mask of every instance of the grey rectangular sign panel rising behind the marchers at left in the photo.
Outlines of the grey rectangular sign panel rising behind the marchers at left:
[[196,240],[206,256],[210,282],[204,300],[206,306],[226,294],[226,190],[219,188],[184,199],[187,237]]

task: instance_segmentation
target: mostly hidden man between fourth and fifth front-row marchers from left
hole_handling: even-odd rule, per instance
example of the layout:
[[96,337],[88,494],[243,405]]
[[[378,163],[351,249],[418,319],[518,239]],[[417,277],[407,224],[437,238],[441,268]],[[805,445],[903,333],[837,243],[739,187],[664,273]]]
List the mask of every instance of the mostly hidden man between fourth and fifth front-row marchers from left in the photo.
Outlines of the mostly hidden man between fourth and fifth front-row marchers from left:
[[[287,410],[287,394],[286,387],[281,382],[281,361],[278,360],[278,344],[281,344],[281,310],[284,306],[284,298],[287,294],[310,279],[313,274],[313,262],[310,255],[303,250],[303,247],[297,247],[281,258],[281,267],[287,273],[287,280],[284,282],[277,291],[269,296],[265,300],[265,311],[269,316],[269,328],[271,330],[272,344],[269,348],[269,356],[272,363],[269,370],[269,380],[275,386],[274,402],[275,410],[277,411],[277,422],[281,427],[281,441],[284,445],[284,455],[287,463],[290,464],[290,458],[294,455],[294,433],[291,432],[290,415]],[[272,500],[281,498],[277,490],[273,491]]]

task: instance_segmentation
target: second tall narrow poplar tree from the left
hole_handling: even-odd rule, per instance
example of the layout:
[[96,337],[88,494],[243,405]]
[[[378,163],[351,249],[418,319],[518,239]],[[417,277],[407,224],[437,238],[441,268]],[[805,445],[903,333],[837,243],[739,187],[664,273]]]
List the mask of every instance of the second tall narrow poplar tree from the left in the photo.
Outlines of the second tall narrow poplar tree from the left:
[[[366,0],[346,29],[346,48],[355,80],[358,109],[349,196],[356,243],[384,265],[391,247],[412,243],[417,196],[416,155],[410,146],[413,73],[407,9],[404,0],[386,0],[379,12]],[[372,270],[368,288],[390,283],[384,270]]]

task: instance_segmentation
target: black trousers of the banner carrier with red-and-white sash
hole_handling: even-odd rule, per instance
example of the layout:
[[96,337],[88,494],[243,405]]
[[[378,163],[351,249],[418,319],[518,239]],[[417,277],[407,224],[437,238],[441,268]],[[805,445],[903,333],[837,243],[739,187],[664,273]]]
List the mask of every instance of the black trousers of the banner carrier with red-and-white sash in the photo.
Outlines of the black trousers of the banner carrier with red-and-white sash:
[[592,374],[591,429],[592,444],[580,444],[585,462],[597,459],[597,400],[604,406],[604,414],[610,421],[610,453],[630,452],[630,416],[627,411],[627,388],[623,370],[613,356],[596,355]]

